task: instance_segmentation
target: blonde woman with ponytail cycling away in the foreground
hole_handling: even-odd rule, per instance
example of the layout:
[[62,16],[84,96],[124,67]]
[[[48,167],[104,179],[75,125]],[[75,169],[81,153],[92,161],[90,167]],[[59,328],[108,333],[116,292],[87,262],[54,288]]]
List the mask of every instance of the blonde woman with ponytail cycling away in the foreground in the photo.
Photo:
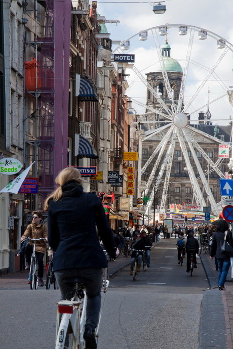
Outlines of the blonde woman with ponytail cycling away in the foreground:
[[107,268],[96,226],[107,253],[113,259],[117,247],[100,199],[96,194],[83,192],[80,172],[74,167],[67,167],[58,174],[55,182],[58,188],[45,202],[45,210],[48,210],[48,241],[56,252],[53,269],[61,299],[65,299],[70,291],[63,279],[80,277],[87,280],[84,338],[86,347],[95,349],[94,331],[101,306],[102,268]]

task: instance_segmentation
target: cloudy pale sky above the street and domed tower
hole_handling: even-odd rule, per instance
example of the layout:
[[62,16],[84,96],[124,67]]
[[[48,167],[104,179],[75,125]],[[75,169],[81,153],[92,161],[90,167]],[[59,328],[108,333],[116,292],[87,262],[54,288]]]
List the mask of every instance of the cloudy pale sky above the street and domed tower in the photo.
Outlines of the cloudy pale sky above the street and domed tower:
[[[230,115],[233,118],[232,107],[229,104],[228,97],[222,97],[227,90],[232,90],[233,86],[233,60],[232,46],[223,56],[224,49],[217,49],[217,38],[222,37],[233,43],[232,0],[168,0],[164,3],[167,11],[165,14],[155,15],[152,12],[151,2],[139,1],[97,1],[97,13],[104,16],[106,20],[118,20],[118,25],[106,23],[107,31],[112,40],[124,41],[131,36],[130,50],[124,51],[125,54],[135,54],[135,66],[145,77],[146,72],[153,71],[154,65],[159,62],[158,53],[151,31],[148,31],[148,40],[140,41],[138,33],[148,28],[165,26],[168,29],[168,43],[171,46],[171,57],[176,59],[182,68],[184,68],[186,54],[191,50],[190,63],[188,66],[184,101],[188,102],[199,86],[202,89],[197,94],[195,100],[191,103],[188,112],[192,112],[191,120],[197,120],[198,112],[207,111],[209,97],[209,109],[212,114],[213,124],[225,124],[230,121]],[[179,25],[188,26],[188,35],[178,34]],[[189,45],[190,26],[200,27],[207,31],[207,39],[199,40],[198,30],[193,30],[193,42]],[[158,31],[158,29],[157,29]],[[211,34],[213,33],[213,34]],[[211,37],[213,35],[214,37]],[[165,42],[165,36],[157,35],[160,46]],[[114,50],[116,46],[112,46]],[[117,52],[122,52],[117,51]],[[117,53],[115,52],[115,53]],[[206,83],[202,82],[209,72],[209,78]],[[127,79],[129,89],[126,94],[145,104],[146,88],[141,79],[130,69],[126,71],[130,74]],[[208,93],[209,91],[209,93]],[[219,99],[218,99],[219,98]],[[216,102],[213,100],[218,99]],[[133,104],[137,113],[143,113],[144,107]]]

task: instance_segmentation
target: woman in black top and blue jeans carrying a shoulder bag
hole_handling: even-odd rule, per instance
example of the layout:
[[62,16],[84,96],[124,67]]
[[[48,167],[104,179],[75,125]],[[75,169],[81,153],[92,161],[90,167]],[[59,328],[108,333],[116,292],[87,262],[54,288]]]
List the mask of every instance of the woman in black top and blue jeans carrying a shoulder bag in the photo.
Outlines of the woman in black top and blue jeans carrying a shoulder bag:
[[218,220],[216,232],[214,232],[212,244],[210,247],[210,258],[213,259],[215,254],[218,261],[218,288],[224,290],[226,276],[230,267],[230,255],[222,253],[221,245],[224,242],[226,232],[226,242],[233,247],[232,233],[228,230],[228,223],[224,220]]

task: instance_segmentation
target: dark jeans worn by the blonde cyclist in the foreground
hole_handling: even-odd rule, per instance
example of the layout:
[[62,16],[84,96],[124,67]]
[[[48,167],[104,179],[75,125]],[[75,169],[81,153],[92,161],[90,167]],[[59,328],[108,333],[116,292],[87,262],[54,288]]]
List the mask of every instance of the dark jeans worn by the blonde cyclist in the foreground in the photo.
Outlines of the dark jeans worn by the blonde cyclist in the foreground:
[[63,283],[63,279],[77,277],[87,280],[87,319],[85,327],[95,331],[101,307],[102,268],[63,269],[55,272],[55,276],[61,291],[61,299],[66,299],[66,294],[71,291],[71,288]]

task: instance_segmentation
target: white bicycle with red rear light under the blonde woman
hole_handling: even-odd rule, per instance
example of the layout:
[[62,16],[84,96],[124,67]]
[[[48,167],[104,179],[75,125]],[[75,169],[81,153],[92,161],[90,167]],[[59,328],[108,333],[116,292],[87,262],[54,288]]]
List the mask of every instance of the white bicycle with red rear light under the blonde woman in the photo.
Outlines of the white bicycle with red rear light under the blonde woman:
[[[109,281],[106,279],[107,269],[103,269],[103,293],[101,310],[99,314],[98,326],[95,330],[96,343],[99,337],[99,324],[104,307],[105,295]],[[68,279],[67,279],[68,280]],[[57,326],[56,326],[56,346],[64,349],[85,349],[84,330],[86,323],[87,295],[85,292],[84,280],[80,278],[70,278],[67,283],[73,288],[71,300],[58,301]]]

